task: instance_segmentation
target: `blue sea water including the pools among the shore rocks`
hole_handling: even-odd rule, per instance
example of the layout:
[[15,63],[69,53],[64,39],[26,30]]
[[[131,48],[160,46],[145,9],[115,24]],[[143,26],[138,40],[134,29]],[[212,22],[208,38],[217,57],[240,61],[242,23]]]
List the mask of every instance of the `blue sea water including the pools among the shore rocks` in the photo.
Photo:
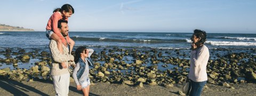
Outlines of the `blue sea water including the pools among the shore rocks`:
[[[125,50],[138,49],[141,52],[157,49],[162,51],[164,56],[182,59],[189,59],[190,37],[192,34],[192,31],[191,33],[69,32],[69,36],[76,42],[75,48],[86,45],[94,49],[97,54],[106,49],[114,49],[114,47]],[[256,55],[256,34],[207,33],[206,38],[205,45],[209,47],[210,59],[218,59],[228,53],[245,52]],[[49,39],[45,36],[44,31],[1,31],[0,39],[0,51],[5,51],[8,48],[12,49],[13,52],[18,52],[20,49],[25,49],[26,52],[34,50],[50,52]],[[11,57],[15,58],[15,55]],[[0,54],[0,58],[5,59],[6,57],[4,54]],[[125,57],[125,59],[126,63],[132,63],[135,60],[131,56]],[[36,61],[41,60],[30,59],[29,62],[19,62],[18,65],[19,68],[29,69],[34,66]],[[104,62],[100,63],[103,65]],[[0,69],[5,67],[14,68],[12,65],[5,65],[3,62],[0,64],[3,65],[0,66]],[[151,65],[150,60],[146,65]],[[158,68],[165,70],[175,67],[162,68],[162,65],[164,63],[160,62]]]

